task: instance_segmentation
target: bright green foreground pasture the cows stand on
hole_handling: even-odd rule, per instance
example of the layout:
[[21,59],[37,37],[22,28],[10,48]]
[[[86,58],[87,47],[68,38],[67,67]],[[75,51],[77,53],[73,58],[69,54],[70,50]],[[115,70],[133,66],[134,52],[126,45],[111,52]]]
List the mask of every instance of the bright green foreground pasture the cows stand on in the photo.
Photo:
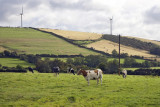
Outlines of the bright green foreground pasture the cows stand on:
[[0,106],[141,107],[160,106],[160,78],[104,75],[90,86],[82,76],[0,73]]

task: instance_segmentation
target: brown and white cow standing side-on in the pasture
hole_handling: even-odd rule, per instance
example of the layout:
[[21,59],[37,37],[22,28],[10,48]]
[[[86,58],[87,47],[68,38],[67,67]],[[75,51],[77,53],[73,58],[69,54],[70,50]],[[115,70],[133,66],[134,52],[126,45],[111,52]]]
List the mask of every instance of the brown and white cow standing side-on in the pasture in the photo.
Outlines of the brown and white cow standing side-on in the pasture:
[[97,80],[97,85],[99,83],[99,79],[101,80],[102,85],[102,77],[103,77],[103,71],[101,69],[96,70],[80,70],[78,71],[77,75],[82,74],[83,77],[88,81],[88,85],[90,85],[90,80]]

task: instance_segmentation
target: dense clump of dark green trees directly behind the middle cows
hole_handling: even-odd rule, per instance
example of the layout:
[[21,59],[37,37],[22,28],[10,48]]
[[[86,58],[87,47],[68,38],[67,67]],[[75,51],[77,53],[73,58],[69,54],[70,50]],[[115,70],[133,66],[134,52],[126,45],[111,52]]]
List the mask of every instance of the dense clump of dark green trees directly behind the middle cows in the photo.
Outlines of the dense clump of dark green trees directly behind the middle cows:
[[116,69],[118,68],[118,61],[114,60],[108,62],[107,57],[101,55],[68,58],[66,62],[59,59],[50,60],[49,58],[45,58],[45,60],[38,60],[36,62],[36,69],[42,73],[49,73],[52,72],[53,67],[59,66],[61,72],[67,72],[68,67],[72,67],[75,71],[78,71],[79,69],[105,69],[106,65],[108,68],[107,70],[110,72],[116,72]]

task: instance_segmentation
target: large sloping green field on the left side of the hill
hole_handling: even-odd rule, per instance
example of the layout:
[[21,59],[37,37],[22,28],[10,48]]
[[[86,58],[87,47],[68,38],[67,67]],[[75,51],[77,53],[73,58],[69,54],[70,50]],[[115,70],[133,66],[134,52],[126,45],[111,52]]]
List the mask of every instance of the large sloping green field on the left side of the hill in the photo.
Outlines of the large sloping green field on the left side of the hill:
[[26,54],[98,54],[30,28],[0,28],[0,47]]

